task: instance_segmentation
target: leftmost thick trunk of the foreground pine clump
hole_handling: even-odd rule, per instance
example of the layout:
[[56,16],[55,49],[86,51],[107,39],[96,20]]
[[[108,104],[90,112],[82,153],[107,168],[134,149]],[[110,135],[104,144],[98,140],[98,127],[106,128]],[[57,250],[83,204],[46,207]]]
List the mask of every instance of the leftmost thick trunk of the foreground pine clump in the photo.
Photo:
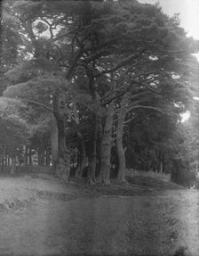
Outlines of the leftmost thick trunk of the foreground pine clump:
[[66,145],[66,132],[64,112],[60,110],[60,91],[59,88],[53,95],[53,112],[57,120],[58,127],[58,158],[56,161],[55,172],[65,181],[70,180],[70,155]]

